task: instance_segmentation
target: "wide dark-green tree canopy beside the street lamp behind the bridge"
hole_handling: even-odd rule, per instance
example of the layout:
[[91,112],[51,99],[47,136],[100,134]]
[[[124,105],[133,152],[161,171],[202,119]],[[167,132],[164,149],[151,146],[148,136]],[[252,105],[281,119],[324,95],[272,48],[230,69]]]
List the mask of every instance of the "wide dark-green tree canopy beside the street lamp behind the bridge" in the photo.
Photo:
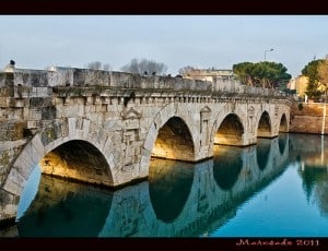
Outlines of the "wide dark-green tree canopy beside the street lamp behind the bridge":
[[277,62],[241,62],[233,64],[233,72],[242,84],[262,86],[263,88],[278,88],[288,83],[292,75],[282,63]]

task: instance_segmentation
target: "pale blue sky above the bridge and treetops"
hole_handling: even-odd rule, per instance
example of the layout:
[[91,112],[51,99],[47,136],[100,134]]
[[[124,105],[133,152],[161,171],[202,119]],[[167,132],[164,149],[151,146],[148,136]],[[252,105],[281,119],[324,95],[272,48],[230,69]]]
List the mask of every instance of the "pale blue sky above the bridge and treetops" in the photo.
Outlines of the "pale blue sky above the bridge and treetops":
[[232,69],[238,62],[281,62],[293,76],[328,55],[328,15],[0,15],[0,68],[114,71],[132,58],[177,74],[186,65]]

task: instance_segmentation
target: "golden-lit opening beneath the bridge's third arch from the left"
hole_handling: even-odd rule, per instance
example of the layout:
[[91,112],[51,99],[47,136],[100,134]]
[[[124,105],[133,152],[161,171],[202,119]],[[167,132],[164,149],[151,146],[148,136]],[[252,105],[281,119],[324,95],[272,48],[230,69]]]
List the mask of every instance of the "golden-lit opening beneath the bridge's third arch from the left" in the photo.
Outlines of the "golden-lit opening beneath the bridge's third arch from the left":
[[214,135],[214,144],[243,145],[244,127],[235,113],[227,115]]

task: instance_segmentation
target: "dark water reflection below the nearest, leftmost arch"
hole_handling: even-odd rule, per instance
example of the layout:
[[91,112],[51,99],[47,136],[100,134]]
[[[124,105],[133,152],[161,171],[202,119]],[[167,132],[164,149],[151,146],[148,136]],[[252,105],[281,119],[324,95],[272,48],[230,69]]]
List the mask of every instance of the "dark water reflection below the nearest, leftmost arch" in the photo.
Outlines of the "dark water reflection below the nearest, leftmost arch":
[[17,220],[20,237],[97,237],[113,192],[42,175],[38,191]]

